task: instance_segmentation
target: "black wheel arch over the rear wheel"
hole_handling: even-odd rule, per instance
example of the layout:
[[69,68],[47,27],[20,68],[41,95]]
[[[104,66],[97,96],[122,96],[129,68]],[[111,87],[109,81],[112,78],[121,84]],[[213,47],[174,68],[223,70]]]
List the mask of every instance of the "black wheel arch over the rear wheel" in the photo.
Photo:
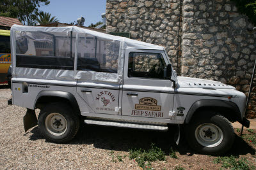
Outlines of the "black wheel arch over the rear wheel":
[[77,113],[77,115],[81,115],[79,105],[76,101],[76,97],[70,92],[63,92],[59,90],[42,90],[36,96],[34,108],[41,108],[46,103],[59,102],[64,101],[70,104],[72,110]]

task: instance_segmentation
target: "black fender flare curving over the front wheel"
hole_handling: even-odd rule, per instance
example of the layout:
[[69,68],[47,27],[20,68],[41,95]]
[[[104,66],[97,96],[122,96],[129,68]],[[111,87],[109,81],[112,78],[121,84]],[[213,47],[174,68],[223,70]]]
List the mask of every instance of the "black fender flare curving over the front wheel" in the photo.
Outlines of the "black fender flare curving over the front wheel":
[[231,101],[205,99],[205,100],[196,101],[191,106],[185,118],[185,123],[188,124],[191,118],[193,117],[194,113],[204,108],[212,108],[214,110],[230,110],[232,111],[232,113],[226,113],[226,114],[234,114],[230,116],[235,117],[238,122],[242,121],[240,110],[235,103]]

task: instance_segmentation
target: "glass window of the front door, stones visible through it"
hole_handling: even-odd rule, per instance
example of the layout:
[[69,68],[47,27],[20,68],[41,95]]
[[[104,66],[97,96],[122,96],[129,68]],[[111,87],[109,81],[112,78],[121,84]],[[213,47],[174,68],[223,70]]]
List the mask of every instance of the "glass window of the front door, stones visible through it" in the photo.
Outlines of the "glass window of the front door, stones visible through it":
[[128,76],[166,79],[166,63],[161,53],[129,53]]

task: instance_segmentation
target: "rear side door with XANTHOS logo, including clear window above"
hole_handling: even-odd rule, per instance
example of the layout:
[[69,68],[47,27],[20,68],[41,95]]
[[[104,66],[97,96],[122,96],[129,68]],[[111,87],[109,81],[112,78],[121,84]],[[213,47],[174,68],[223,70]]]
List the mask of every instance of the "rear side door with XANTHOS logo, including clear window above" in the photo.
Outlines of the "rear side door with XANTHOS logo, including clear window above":
[[77,94],[82,99],[81,103],[84,103],[82,115],[118,115],[120,85],[118,82],[102,79],[111,78],[110,74],[117,74],[119,50],[120,41],[106,41],[89,34],[79,34],[76,74],[80,76],[77,80]]

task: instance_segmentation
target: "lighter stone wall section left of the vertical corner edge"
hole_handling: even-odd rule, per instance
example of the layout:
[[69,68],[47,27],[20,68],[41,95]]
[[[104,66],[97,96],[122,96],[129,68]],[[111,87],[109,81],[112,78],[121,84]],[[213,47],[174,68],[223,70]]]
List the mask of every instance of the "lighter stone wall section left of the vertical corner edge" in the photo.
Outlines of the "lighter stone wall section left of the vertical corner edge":
[[106,32],[130,32],[132,39],[164,46],[179,72],[180,11],[180,0],[107,0]]

